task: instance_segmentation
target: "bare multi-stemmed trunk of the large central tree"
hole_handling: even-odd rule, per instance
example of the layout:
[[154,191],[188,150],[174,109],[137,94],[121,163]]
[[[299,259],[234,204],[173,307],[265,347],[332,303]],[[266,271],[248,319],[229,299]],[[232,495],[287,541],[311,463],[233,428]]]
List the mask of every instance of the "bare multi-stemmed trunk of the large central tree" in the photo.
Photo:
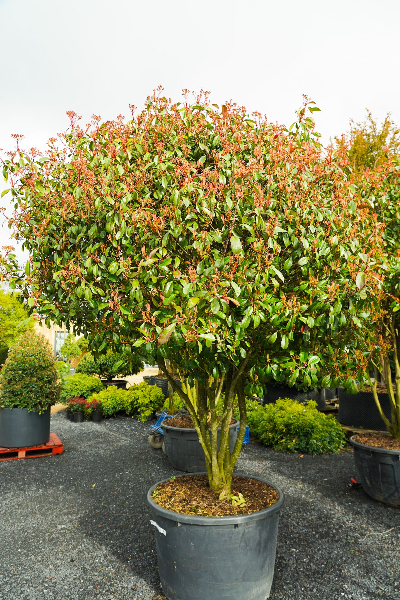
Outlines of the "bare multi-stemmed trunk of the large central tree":
[[[242,448],[243,438],[246,430],[246,400],[245,400],[245,379],[246,364],[248,357],[239,367],[230,367],[224,377],[214,381],[212,377],[205,376],[204,382],[196,380],[196,399],[195,407],[191,401],[190,395],[185,393],[184,389],[174,381],[167,368],[163,368],[169,383],[173,386],[182,398],[186,409],[193,419],[194,428],[199,436],[200,444],[204,451],[206,459],[207,473],[210,488],[216,493],[222,490],[231,492],[232,473],[239,458]],[[221,394],[222,384],[225,382],[225,396],[222,405],[222,414],[217,415],[216,403]],[[237,396],[240,413],[240,429],[234,445],[233,452],[229,448],[230,422],[232,418],[234,399]],[[219,440],[218,452],[218,428],[221,427],[221,437]]]

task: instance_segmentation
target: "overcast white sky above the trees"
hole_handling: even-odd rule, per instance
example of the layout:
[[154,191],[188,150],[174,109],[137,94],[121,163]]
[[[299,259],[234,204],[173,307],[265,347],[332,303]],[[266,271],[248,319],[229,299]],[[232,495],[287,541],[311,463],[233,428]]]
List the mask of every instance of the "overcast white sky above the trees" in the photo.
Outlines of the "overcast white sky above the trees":
[[66,110],[128,117],[159,84],[285,124],[308,94],[324,143],[365,107],[400,124],[399,23],[399,0],[0,0],[0,147],[44,151]]

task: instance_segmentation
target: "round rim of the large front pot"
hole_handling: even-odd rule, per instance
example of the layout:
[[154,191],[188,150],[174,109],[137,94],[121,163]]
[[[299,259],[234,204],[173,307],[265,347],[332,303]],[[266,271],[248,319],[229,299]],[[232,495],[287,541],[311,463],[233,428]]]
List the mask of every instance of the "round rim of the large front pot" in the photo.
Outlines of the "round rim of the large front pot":
[[[177,479],[179,477],[187,477],[189,475],[207,475],[207,473],[182,473],[182,475],[177,476]],[[272,506],[267,506],[267,508],[263,508],[261,511],[251,512],[245,515],[228,515],[227,517],[203,517],[201,515],[185,515],[181,512],[169,511],[168,509],[163,508],[163,506],[157,504],[157,502],[154,502],[154,500],[152,499],[151,494],[153,493],[155,488],[157,488],[157,485],[169,481],[169,479],[163,479],[162,481],[158,481],[157,484],[153,485],[153,487],[151,487],[148,491],[147,499],[149,506],[152,509],[152,511],[154,511],[157,515],[169,519],[170,521],[176,521],[178,523],[185,523],[188,525],[204,526],[232,525],[238,523],[248,523],[248,521],[259,521],[260,519],[270,517],[271,515],[275,514],[275,512],[279,512],[281,510],[285,502],[285,494],[278,485],[273,484],[267,479],[255,477],[254,475],[245,475],[245,473],[234,473],[234,475],[238,477],[246,477],[248,479],[257,479],[258,481],[262,481],[264,484],[270,485],[271,487],[275,488],[275,490],[278,492],[278,500],[276,500],[275,504],[273,504]]]

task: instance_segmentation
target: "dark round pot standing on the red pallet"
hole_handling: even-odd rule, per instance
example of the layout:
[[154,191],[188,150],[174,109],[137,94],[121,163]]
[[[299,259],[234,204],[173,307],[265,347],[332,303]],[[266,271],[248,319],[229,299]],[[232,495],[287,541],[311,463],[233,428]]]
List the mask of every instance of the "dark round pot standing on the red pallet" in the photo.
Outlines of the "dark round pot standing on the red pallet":
[[50,439],[50,406],[41,415],[28,409],[0,408],[0,446],[27,448],[40,446]]

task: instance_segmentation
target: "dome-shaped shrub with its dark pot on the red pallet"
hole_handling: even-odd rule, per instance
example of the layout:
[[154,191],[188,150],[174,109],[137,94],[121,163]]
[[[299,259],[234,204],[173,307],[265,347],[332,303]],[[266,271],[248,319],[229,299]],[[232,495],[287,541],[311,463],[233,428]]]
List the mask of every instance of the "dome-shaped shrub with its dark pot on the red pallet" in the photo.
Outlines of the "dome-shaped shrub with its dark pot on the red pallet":
[[8,351],[0,374],[0,446],[39,446],[50,439],[50,406],[59,400],[49,343],[27,331]]

